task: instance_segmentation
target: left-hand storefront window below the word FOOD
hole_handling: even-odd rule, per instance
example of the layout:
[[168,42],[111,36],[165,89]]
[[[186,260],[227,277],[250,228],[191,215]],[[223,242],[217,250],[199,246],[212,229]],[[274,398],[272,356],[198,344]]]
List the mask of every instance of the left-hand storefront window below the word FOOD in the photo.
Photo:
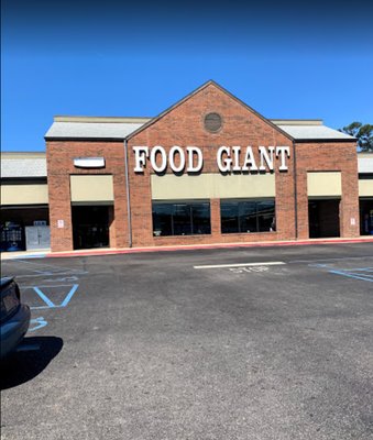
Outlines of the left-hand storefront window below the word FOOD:
[[153,201],[153,235],[210,234],[209,202]]

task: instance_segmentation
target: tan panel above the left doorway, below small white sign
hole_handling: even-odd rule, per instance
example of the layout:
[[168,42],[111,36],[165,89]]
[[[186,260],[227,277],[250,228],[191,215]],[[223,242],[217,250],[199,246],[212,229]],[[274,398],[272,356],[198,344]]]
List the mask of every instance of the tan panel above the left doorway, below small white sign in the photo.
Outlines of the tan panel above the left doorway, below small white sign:
[[112,176],[70,176],[72,201],[113,201]]

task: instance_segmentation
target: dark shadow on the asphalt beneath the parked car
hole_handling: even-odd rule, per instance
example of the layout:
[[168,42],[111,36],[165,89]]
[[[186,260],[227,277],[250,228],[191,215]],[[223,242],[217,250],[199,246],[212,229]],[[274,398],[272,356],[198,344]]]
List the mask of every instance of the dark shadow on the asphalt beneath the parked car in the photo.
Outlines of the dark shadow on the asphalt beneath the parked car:
[[0,389],[12,388],[36,377],[63,345],[63,340],[56,337],[24,338],[14,353],[1,361]]

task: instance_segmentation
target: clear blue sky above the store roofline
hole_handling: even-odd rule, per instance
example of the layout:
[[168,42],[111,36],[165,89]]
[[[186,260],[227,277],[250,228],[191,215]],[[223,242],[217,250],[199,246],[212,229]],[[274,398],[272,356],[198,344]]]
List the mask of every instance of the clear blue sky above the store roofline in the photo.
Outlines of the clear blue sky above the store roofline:
[[153,117],[208,79],[263,116],[373,123],[373,7],[2,1],[1,150],[55,114]]

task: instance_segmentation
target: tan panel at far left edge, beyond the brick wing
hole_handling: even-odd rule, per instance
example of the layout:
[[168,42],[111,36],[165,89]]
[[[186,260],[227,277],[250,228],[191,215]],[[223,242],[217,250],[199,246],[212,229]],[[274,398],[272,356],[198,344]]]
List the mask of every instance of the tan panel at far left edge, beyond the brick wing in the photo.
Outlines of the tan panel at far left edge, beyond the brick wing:
[[47,205],[47,185],[1,185],[1,205]]

